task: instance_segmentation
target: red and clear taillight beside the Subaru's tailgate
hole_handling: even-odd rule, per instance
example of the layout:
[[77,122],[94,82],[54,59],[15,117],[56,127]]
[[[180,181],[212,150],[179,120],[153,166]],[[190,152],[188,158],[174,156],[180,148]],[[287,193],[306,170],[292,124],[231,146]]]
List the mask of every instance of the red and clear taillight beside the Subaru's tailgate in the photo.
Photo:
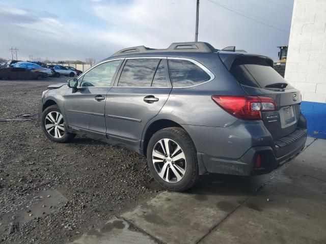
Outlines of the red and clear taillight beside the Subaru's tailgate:
[[277,110],[273,98],[251,96],[212,96],[212,100],[228,113],[241,119],[261,119],[261,112]]

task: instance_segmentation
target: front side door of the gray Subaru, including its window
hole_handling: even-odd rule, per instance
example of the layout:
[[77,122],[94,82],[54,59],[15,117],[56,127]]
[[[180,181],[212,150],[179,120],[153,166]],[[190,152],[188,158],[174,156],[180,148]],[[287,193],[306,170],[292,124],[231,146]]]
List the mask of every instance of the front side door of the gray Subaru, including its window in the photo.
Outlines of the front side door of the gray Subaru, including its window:
[[64,95],[64,108],[69,128],[105,137],[104,106],[113,85],[121,59],[101,63],[78,79],[78,87]]

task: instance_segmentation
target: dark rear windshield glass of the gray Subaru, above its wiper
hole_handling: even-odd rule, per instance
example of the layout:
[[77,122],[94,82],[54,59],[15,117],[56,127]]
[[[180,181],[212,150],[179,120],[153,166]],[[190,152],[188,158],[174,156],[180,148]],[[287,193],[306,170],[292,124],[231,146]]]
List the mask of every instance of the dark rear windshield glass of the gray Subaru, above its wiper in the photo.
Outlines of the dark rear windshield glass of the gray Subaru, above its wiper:
[[[245,57],[234,60],[230,72],[242,85],[265,88],[266,85],[287,83],[284,78],[268,64],[266,58]],[[287,83],[288,84],[288,83]],[[286,89],[293,88],[287,85]]]

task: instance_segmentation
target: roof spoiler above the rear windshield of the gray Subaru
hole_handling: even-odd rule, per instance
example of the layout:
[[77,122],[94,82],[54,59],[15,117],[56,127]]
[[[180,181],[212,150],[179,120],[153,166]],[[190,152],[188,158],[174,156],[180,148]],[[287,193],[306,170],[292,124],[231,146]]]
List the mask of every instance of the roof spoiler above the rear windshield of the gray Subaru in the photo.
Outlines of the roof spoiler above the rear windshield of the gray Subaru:
[[267,64],[270,67],[273,67],[274,61],[270,57],[264,56],[264,55],[257,55],[257,54],[247,54],[247,53],[230,53],[230,52],[219,52],[219,57],[221,58],[223,64],[225,67],[230,70],[232,67],[232,64],[235,60],[242,59],[242,58],[258,58],[258,59],[265,59]]

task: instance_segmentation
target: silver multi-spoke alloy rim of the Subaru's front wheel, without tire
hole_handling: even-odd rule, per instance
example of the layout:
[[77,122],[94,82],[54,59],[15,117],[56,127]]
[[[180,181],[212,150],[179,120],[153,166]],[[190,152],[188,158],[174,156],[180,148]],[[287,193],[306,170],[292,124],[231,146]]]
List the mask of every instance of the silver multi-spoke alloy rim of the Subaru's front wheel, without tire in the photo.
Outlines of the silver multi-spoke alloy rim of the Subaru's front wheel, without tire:
[[65,135],[63,116],[57,111],[51,111],[45,116],[45,129],[50,136],[61,138]]

